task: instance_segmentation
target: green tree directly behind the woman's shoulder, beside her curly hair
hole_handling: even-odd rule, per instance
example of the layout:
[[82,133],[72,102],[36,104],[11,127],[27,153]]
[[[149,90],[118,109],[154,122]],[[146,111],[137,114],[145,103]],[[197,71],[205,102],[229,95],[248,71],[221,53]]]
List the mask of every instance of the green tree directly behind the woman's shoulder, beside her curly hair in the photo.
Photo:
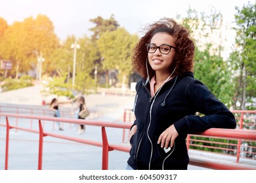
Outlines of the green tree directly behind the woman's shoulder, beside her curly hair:
[[[231,70],[228,62],[223,60],[224,37],[221,35],[223,17],[215,8],[210,14],[189,9],[188,17],[183,19],[183,24],[190,29],[196,44],[195,77],[201,80],[214,95],[228,107],[232,101]],[[218,42],[215,42],[215,40]]]

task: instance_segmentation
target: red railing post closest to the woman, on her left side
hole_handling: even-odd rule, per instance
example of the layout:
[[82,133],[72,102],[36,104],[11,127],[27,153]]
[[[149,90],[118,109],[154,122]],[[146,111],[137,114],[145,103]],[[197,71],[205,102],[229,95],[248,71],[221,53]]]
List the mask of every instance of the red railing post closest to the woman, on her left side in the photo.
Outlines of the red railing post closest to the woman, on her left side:
[[106,129],[102,126],[102,170],[108,169],[108,152],[114,150],[108,145],[108,137],[106,136]]

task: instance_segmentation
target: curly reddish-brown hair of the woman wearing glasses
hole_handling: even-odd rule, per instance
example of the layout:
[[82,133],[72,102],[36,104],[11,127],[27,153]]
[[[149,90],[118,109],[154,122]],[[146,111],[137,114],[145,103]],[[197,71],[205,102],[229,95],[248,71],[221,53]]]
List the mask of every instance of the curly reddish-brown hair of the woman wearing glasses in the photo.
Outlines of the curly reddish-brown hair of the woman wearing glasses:
[[176,67],[173,76],[181,75],[188,71],[193,71],[194,69],[194,42],[190,39],[189,31],[186,27],[177,24],[175,20],[171,18],[161,18],[158,22],[154,24],[149,24],[146,26],[145,30],[148,30],[146,34],[140,39],[138,44],[133,50],[132,65],[143,78],[150,78],[156,75],[155,71],[148,66],[148,75],[146,71],[146,61],[148,57],[148,51],[146,50],[146,44],[150,43],[152,37],[156,33],[168,33],[175,38],[176,43],[176,54],[175,54],[175,64],[171,69],[173,71]]

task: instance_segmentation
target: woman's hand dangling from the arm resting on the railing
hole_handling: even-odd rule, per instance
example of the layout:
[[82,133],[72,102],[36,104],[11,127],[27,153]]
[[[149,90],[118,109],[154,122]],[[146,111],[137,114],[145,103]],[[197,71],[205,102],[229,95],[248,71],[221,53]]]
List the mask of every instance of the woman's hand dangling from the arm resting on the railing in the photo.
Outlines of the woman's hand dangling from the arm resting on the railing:
[[158,144],[161,143],[161,148],[168,148],[171,141],[171,147],[173,147],[173,143],[178,135],[179,133],[175,129],[175,126],[171,125],[167,129],[165,129],[163,133],[161,133],[160,137],[158,138]]

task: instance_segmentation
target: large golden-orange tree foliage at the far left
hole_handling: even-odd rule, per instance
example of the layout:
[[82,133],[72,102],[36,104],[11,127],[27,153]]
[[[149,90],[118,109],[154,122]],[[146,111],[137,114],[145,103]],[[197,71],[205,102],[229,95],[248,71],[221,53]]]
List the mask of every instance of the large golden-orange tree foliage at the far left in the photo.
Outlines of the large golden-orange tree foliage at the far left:
[[45,58],[44,65],[51,63],[48,58],[57,45],[53,22],[39,14],[35,20],[26,18],[8,27],[0,41],[0,56],[12,61],[11,73],[18,78],[36,67],[39,55]]

